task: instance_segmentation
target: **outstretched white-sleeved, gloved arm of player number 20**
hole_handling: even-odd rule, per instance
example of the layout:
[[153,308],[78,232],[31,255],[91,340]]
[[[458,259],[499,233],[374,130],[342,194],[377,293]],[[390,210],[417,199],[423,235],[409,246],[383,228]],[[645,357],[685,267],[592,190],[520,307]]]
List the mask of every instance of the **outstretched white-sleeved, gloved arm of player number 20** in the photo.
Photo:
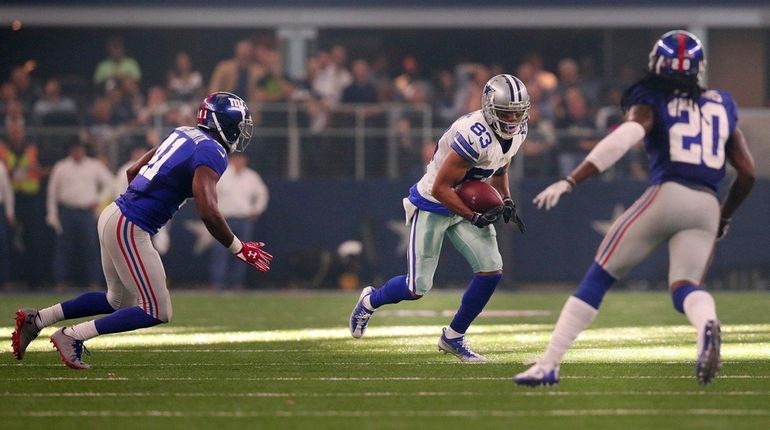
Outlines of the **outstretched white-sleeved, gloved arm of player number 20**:
[[551,184],[532,201],[538,209],[550,210],[559,198],[572,191],[577,184],[612,167],[631,147],[646,136],[654,124],[652,109],[647,105],[633,105],[626,113],[626,121],[613,130],[567,177]]

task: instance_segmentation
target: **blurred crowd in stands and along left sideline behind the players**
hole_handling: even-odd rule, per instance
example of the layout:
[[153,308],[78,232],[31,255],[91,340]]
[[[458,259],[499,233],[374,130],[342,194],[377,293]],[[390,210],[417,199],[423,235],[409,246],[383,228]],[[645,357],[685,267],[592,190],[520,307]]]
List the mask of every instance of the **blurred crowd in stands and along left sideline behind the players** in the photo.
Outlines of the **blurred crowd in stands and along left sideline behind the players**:
[[[460,63],[428,71],[415,56],[350,58],[345,46],[334,45],[307,58],[302,79],[291,79],[275,40],[255,38],[235,43],[232,57],[211,71],[197,70],[180,51],[165,82],[148,83],[121,38],[110,38],[105,48],[91,77],[41,80],[26,63],[0,86],[0,284],[9,277],[11,253],[30,285],[62,283],[73,265],[83,266],[74,271],[85,276],[81,281],[99,283],[94,214],[126,186],[125,165],[117,166],[158,145],[173,127],[194,124],[209,92],[233,92],[249,103],[257,125],[249,165],[263,175],[286,176],[287,136],[294,130],[304,177],[350,177],[352,166],[364,163],[366,177],[392,177],[395,165],[399,177],[417,178],[442,130],[481,108],[486,81],[513,73],[532,100],[517,168],[524,176],[550,177],[566,175],[622,121],[622,91],[640,77],[627,68],[601,79],[592,58],[564,58],[550,71],[537,53],[515,70]],[[644,165],[637,150],[610,176],[644,179]],[[260,189],[264,197],[243,198],[265,203],[267,190]],[[233,205],[245,230],[264,210],[247,206]],[[226,280],[223,270],[212,273],[215,286],[242,282]]]

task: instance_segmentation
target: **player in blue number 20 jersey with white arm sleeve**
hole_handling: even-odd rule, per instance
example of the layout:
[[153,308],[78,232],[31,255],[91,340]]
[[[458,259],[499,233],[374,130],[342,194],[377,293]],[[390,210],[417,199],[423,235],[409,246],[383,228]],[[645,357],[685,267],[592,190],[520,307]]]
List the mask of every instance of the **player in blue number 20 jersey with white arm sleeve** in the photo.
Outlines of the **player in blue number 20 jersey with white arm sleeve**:
[[[562,357],[594,320],[610,286],[663,242],[668,243],[668,283],[674,308],[697,330],[698,382],[709,383],[720,368],[720,323],[703,278],[715,240],[754,184],[754,161],[737,127],[729,93],[700,86],[706,60],[701,42],[675,30],[650,52],[649,73],[631,86],[622,102],[626,121],[600,141],[566,178],[538,194],[538,208],[559,198],[617,162],[644,140],[650,158],[650,186],[612,225],[575,293],[567,300],[543,356],[514,377],[519,385],[555,384]],[[737,176],[727,197],[717,200],[725,162]]]

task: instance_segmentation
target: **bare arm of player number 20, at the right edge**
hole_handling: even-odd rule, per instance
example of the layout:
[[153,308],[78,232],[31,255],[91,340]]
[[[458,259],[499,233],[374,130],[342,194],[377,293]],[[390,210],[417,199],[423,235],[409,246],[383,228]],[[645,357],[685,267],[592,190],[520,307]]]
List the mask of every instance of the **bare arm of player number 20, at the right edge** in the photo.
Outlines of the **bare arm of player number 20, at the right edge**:
[[717,237],[722,237],[727,233],[730,219],[743,203],[743,200],[751,192],[756,179],[754,171],[754,158],[751,156],[749,146],[746,143],[746,137],[741,129],[736,128],[728,140],[725,151],[727,152],[727,161],[736,170],[737,176],[730,185],[730,191],[727,193],[722,203],[721,219],[719,222],[719,232]]

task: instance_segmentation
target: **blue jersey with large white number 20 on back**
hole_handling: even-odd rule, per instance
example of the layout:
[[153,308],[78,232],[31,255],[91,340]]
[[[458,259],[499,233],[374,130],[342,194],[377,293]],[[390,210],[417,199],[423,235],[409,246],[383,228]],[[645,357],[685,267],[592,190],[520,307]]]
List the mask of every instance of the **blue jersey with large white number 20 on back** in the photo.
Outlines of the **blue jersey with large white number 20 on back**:
[[687,98],[645,87],[631,87],[627,106],[647,105],[655,115],[644,142],[650,182],[674,181],[716,192],[725,176],[725,147],[738,123],[738,108],[726,91]]

